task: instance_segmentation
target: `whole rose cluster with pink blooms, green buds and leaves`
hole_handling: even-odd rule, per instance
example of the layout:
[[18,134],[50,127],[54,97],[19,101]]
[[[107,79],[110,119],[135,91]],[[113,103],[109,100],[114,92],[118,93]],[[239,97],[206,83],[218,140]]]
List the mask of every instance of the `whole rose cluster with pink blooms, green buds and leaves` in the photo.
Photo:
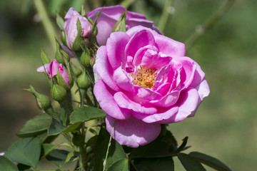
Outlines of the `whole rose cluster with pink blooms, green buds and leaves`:
[[37,68],[51,98],[26,89],[42,113],[19,130],[21,140],[0,152],[0,170],[39,170],[46,159],[56,171],[67,170],[68,162],[76,162],[69,170],[80,171],[170,171],[173,157],[186,170],[205,170],[201,163],[229,170],[201,152],[183,153],[188,137],[178,145],[166,128],[195,115],[210,92],[183,43],[122,6],[87,14],[71,8],[56,20],[61,42],[55,59],[41,50]]

